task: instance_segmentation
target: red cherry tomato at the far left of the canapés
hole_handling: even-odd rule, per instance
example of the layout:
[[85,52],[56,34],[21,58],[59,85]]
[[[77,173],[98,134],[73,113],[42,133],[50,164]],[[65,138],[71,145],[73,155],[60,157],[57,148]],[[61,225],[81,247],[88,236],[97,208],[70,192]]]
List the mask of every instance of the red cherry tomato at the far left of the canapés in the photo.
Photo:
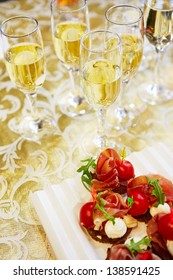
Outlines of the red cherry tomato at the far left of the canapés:
[[93,222],[94,207],[95,207],[95,202],[87,202],[81,207],[79,220],[82,226],[86,228],[92,228],[94,226],[94,222]]

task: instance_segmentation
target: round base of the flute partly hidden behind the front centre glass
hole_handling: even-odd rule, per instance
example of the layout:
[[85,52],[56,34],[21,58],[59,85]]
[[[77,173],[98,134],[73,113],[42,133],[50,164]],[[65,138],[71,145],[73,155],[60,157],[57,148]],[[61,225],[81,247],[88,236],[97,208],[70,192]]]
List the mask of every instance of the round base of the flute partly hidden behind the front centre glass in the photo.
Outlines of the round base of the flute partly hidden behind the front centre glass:
[[140,118],[134,104],[111,108],[107,113],[109,126],[116,130],[127,130],[138,125]]

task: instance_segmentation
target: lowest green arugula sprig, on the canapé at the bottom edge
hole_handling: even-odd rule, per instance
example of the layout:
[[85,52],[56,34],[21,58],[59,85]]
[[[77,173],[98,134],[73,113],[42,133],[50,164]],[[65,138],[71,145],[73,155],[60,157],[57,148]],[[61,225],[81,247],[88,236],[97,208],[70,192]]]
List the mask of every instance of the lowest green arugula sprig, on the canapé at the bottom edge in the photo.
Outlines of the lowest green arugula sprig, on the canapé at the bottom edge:
[[130,240],[130,244],[125,244],[126,247],[129,249],[129,251],[132,253],[132,255],[134,256],[135,252],[144,252],[145,249],[141,248],[141,245],[145,245],[149,248],[151,248],[151,239],[147,236],[143,237],[141,240],[139,240],[138,242],[135,242],[134,239],[132,238]]

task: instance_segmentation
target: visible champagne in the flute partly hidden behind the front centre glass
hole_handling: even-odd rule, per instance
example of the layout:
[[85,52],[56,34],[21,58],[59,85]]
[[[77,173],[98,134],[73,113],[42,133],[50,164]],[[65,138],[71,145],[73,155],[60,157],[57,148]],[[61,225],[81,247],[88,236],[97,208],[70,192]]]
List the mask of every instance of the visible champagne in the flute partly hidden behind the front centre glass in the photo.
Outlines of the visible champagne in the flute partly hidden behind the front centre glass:
[[123,79],[129,80],[138,69],[143,54],[143,41],[137,35],[123,34],[122,39],[122,68]]

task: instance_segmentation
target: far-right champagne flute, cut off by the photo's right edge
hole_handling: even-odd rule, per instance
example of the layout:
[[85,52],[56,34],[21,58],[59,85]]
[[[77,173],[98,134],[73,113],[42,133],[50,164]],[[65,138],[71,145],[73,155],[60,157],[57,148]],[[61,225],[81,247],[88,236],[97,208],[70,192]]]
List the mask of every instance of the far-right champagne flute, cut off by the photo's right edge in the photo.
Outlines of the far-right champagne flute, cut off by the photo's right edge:
[[[160,79],[162,57],[173,40],[173,1],[147,0],[144,5],[145,36],[154,47],[157,60],[154,63],[153,80],[143,83],[140,98],[148,104],[163,104],[173,99],[173,92],[166,88]],[[162,74],[164,75],[164,74]]]

